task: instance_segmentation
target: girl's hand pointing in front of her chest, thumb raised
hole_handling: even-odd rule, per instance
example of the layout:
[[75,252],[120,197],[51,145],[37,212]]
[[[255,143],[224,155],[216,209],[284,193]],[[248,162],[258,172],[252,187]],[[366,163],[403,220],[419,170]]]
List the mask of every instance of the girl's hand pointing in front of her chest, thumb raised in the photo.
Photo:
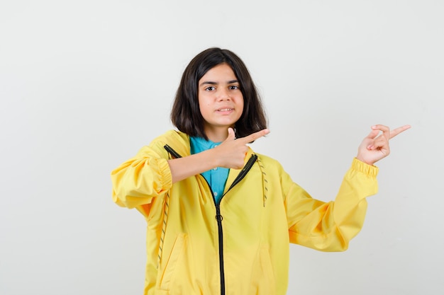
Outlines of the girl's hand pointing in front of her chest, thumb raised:
[[218,159],[218,167],[243,168],[248,152],[247,144],[269,133],[268,129],[263,129],[248,135],[248,137],[236,139],[233,128],[228,128],[227,139],[213,149]]

